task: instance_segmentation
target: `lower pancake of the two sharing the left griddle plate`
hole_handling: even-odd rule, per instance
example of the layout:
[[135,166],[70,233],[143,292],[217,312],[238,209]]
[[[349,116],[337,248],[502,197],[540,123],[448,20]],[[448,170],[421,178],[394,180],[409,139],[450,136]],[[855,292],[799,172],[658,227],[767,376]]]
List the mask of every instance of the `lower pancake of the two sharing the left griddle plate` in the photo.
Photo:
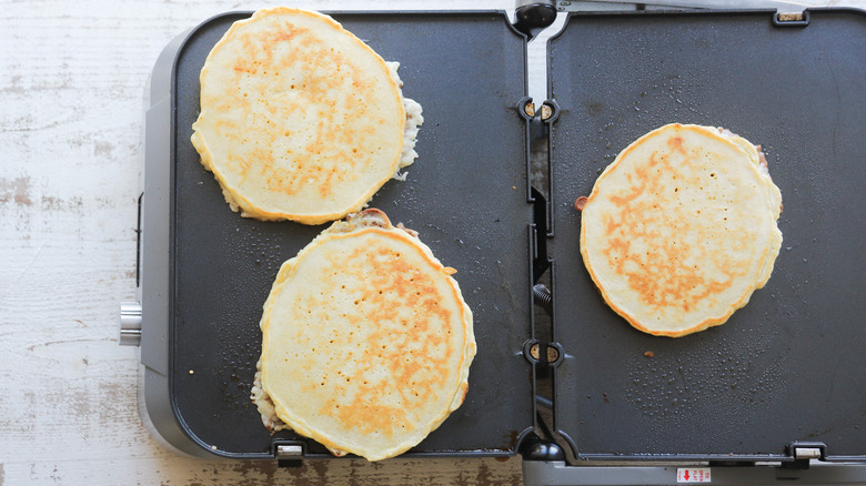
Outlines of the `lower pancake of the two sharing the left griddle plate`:
[[419,444],[463,403],[475,355],[454,272],[379,210],[323,231],[264,304],[252,393],[264,425],[369,460]]

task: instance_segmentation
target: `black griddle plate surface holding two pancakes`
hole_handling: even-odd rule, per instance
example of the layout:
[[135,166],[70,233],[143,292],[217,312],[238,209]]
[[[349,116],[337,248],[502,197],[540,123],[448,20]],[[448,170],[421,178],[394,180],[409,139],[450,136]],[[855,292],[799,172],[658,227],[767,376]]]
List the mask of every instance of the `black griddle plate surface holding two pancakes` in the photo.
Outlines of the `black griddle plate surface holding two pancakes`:
[[[177,61],[170,387],[181,425],[204,448],[266,457],[272,437],[249,398],[262,304],[280,264],[326,226],[232,213],[189,142],[199,71],[231,22],[245,17],[205,22]],[[371,206],[419,231],[443,264],[459,270],[475,318],[479,352],[465,403],[412,452],[513,454],[533,421],[531,368],[518,353],[531,333],[532,206],[526,124],[516,111],[526,92],[526,40],[497,12],[334,17],[402,63],[404,94],[424,109],[409,179],[387,182]],[[306,444],[308,455],[328,454]]]

